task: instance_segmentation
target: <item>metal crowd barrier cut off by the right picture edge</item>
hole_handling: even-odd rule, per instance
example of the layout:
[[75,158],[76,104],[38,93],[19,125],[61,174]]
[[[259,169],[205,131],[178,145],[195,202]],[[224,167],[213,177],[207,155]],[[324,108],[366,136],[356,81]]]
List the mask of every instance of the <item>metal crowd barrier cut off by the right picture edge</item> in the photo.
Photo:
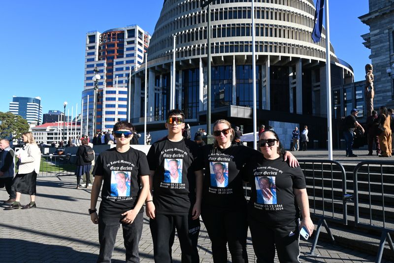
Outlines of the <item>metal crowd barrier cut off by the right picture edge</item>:
[[[394,252],[390,236],[390,233],[394,233],[393,166],[394,161],[363,161],[353,173],[355,225],[382,232],[376,263],[382,260],[386,241]],[[364,208],[362,215],[361,207]]]

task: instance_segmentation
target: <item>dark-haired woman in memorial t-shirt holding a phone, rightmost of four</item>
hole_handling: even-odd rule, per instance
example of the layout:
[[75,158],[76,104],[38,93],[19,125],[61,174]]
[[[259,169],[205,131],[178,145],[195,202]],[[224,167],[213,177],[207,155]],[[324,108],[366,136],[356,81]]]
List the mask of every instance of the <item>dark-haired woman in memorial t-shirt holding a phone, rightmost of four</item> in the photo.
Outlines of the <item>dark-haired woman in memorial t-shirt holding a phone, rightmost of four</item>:
[[259,145],[263,156],[253,156],[242,170],[251,186],[247,210],[257,262],[273,263],[275,248],[279,262],[299,262],[299,229],[305,226],[309,234],[314,229],[304,174],[283,160],[285,151],[274,131],[265,130]]

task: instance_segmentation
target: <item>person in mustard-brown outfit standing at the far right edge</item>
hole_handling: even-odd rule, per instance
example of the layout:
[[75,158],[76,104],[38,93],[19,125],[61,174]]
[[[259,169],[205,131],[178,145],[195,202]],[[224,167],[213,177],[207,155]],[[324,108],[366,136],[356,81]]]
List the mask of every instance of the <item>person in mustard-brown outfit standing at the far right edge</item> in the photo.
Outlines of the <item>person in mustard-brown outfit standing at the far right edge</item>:
[[384,128],[383,132],[379,134],[379,146],[381,150],[380,157],[391,157],[393,149],[392,147],[392,137],[391,137],[391,123],[393,118],[389,114],[386,107],[381,106],[379,108],[379,116],[376,119],[376,123],[381,124]]

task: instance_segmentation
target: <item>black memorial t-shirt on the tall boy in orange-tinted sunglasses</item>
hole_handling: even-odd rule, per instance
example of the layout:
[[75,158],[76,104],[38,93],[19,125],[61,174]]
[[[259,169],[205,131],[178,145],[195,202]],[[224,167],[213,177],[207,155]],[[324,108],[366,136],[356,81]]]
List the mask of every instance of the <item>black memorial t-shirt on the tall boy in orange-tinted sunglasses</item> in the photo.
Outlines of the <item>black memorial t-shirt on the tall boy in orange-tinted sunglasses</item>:
[[195,171],[202,170],[201,151],[188,139],[155,142],[148,152],[153,177],[153,203],[156,213],[187,215],[196,202]]

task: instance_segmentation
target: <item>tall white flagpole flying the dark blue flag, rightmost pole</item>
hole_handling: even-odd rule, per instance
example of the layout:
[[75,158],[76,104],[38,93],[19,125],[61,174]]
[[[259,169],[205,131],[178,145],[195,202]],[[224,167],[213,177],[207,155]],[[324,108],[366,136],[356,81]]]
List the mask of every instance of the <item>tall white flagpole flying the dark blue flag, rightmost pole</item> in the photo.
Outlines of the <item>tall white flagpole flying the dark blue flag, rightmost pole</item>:
[[326,86],[327,86],[327,135],[328,159],[332,160],[332,131],[331,131],[331,62],[329,50],[329,17],[328,0],[326,0]]

